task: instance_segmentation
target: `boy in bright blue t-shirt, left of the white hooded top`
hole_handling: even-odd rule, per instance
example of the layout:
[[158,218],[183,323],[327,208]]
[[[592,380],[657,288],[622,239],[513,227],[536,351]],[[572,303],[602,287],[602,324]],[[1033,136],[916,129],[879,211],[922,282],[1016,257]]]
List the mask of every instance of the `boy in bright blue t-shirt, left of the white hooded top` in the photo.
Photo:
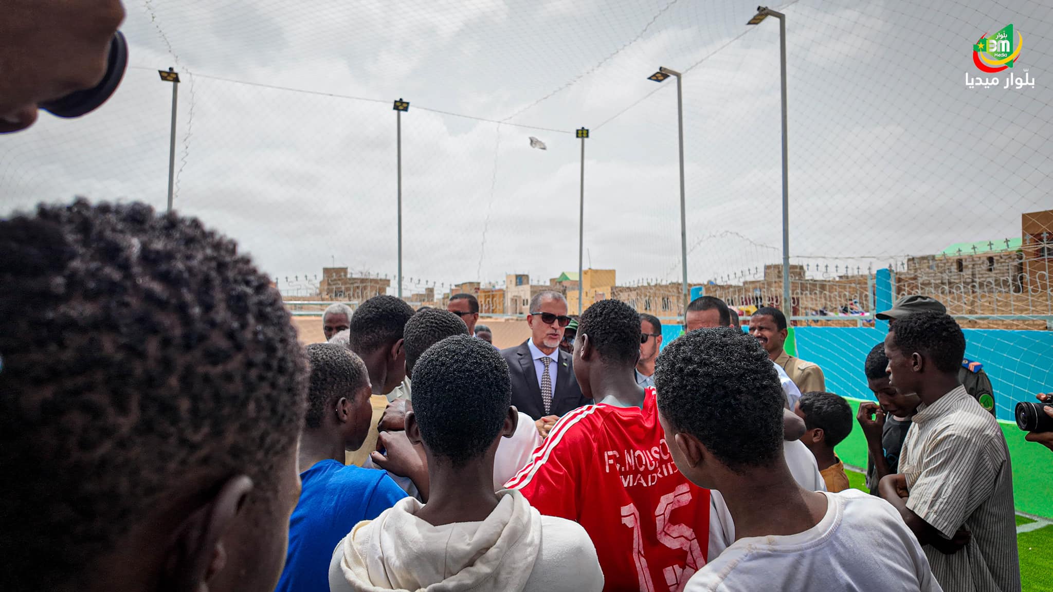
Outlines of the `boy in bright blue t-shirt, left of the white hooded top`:
[[300,435],[299,504],[289,525],[289,555],[276,592],[327,592],[333,549],[361,520],[405,497],[384,471],[344,466],[362,446],[373,409],[370,374],[355,353],[333,343],[306,347],[307,412]]

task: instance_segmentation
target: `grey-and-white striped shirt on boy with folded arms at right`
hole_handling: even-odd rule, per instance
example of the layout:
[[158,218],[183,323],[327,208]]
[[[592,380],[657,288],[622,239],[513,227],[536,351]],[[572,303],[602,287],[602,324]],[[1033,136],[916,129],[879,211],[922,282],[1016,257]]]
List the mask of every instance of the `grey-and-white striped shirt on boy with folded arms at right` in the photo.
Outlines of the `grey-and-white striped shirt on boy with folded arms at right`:
[[998,422],[965,387],[922,404],[903,440],[899,472],[907,508],[945,537],[966,527],[972,539],[945,555],[925,546],[943,590],[1020,590],[1013,510],[1013,471]]

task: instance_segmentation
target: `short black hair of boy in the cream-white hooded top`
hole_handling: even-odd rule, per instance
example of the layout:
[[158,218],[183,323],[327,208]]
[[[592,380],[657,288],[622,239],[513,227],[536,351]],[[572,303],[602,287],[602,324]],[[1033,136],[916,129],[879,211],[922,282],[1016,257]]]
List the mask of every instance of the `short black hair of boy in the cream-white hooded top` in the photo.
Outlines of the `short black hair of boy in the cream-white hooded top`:
[[509,364],[493,346],[468,335],[446,337],[417,360],[413,411],[432,454],[463,466],[501,433],[512,404]]

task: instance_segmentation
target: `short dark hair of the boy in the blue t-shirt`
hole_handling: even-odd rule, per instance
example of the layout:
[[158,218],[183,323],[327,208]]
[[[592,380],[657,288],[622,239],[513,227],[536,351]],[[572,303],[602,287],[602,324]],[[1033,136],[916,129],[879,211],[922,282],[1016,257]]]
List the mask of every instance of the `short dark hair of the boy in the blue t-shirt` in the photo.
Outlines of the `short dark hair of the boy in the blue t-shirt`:
[[311,382],[304,427],[315,429],[321,427],[325,409],[333,401],[340,397],[352,398],[367,384],[370,372],[362,358],[343,346],[312,343],[305,350],[311,364]]

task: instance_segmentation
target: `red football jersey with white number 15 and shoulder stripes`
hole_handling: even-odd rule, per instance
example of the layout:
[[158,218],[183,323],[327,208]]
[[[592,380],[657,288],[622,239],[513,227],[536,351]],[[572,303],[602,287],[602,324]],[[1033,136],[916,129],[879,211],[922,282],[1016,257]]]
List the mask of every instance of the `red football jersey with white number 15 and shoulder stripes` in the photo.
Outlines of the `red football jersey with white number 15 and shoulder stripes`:
[[642,411],[593,404],[564,415],[505,487],[589,532],[605,591],[680,591],[733,539],[719,494],[676,470],[653,388]]

